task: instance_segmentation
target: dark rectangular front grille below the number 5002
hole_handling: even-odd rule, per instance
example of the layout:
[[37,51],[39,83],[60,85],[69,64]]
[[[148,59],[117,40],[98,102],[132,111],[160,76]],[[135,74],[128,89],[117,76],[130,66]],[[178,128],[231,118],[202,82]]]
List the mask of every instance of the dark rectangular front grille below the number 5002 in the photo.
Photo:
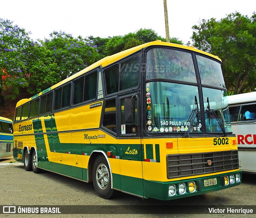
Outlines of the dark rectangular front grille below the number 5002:
[[238,169],[238,151],[170,154],[166,158],[167,178],[193,176]]

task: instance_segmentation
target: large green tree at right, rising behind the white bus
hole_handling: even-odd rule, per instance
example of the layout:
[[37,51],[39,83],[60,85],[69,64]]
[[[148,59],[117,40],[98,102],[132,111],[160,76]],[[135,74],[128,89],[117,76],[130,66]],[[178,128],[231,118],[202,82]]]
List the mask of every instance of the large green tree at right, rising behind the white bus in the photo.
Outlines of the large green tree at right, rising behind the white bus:
[[229,94],[254,90],[256,82],[256,14],[240,13],[217,21],[202,20],[194,25],[193,46],[222,59],[222,71]]

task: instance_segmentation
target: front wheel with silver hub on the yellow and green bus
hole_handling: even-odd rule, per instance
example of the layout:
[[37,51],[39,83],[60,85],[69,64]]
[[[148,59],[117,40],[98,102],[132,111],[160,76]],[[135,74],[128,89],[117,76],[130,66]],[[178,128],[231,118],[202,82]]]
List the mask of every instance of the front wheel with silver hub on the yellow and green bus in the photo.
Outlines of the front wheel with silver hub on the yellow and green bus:
[[113,194],[108,162],[104,156],[98,156],[92,167],[92,181],[98,196],[108,199]]

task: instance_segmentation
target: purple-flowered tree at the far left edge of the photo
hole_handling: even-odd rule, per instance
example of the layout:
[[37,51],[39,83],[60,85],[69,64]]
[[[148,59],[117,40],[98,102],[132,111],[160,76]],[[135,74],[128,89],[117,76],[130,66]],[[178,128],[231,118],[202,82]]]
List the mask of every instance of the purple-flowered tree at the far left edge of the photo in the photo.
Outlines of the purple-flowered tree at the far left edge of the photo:
[[13,25],[10,20],[0,18],[0,104],[5,104],[3,90],[7,97],[15,98],[20,87],[28,84],[24,77],[27,68],[27,48],[31,46],[30,32]]

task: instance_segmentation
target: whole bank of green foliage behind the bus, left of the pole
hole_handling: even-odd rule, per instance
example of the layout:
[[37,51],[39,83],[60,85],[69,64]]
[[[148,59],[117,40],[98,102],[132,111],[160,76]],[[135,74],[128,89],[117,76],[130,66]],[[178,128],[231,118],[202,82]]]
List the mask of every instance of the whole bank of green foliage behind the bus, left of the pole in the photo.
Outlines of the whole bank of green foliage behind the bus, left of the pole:
[[[30,32],[0,19],[0,104],[2,91],[16,98],[21,88],[37,94],[93,64],[107,55],[152,42],[166,41],[152,29],[140,29],[125,36],[73,38],[52,32],[50,38],[34,42]],[[182,44],[172,38],[171,42]]]

